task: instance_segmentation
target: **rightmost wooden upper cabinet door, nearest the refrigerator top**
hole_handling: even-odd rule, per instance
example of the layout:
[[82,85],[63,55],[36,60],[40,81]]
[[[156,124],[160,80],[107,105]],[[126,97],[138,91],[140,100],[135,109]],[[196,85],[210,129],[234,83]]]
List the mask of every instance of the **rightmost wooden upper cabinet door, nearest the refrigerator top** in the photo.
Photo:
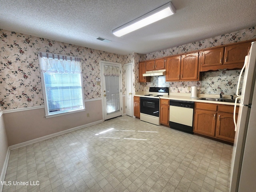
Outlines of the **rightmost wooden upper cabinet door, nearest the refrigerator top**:
[[244,58],[248,54],[250,46],[251,42],[226,46],[223,64],[244,64]]

